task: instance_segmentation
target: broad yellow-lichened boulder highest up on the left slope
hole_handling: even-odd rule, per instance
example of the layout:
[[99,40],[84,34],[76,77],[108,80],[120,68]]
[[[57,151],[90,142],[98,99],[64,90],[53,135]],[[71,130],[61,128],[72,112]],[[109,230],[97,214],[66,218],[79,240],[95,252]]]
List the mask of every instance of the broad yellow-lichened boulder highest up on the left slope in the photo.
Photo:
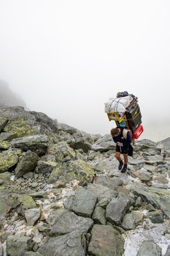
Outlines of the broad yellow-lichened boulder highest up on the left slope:
[[51,128],[44,124],[36,122],[35,116],[29,112],[24,112],[21,115],[11,118],[3,131],[16,133],[17,137],[28,137],[36,134],[43,134],[53,139],[53,133]]

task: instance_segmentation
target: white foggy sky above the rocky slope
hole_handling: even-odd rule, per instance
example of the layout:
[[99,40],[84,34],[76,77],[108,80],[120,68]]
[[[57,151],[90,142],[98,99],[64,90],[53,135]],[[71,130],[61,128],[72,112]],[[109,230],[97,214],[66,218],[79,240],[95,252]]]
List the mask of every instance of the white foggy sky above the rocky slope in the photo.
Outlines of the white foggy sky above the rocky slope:
[[0,78],[31,110],[102,135],[104,103],[126,90],[140,139],[170,137],[169,13],[169,0],[0,0]]

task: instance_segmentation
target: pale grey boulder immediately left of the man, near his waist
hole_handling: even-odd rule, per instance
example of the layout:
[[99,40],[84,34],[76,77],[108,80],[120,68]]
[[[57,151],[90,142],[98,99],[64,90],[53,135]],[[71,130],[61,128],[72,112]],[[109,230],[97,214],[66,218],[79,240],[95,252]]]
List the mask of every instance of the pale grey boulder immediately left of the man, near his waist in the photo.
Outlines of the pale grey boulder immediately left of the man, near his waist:
[[92,149],[95,151],[109,151],[110,149],[115,149],[116,144],[113,141],[113,138],[110,134],[104,135],[101,139],[97,140],[93,146]]

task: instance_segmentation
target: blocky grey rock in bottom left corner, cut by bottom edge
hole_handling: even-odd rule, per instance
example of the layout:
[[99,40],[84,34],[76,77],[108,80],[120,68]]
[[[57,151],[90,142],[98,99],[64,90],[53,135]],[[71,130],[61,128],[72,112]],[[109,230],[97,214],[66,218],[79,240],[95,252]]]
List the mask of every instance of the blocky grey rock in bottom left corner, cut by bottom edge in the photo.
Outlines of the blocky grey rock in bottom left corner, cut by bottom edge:
[[8,236],[7,255],[23,256],[26,251],[31,250],[31,237],[26,236]]

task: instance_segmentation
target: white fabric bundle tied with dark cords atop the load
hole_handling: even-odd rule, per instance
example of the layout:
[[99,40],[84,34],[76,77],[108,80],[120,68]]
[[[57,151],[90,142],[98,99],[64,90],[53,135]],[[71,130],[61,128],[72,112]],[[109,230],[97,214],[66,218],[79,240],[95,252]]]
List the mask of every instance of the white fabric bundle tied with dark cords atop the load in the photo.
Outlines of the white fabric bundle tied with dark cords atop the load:
[[105,103],[105,113],[109,114],[118,112],[119,115],[122,115],[132,100],[133,97],[130,95],[119,98],[110,97],[109,101]]

